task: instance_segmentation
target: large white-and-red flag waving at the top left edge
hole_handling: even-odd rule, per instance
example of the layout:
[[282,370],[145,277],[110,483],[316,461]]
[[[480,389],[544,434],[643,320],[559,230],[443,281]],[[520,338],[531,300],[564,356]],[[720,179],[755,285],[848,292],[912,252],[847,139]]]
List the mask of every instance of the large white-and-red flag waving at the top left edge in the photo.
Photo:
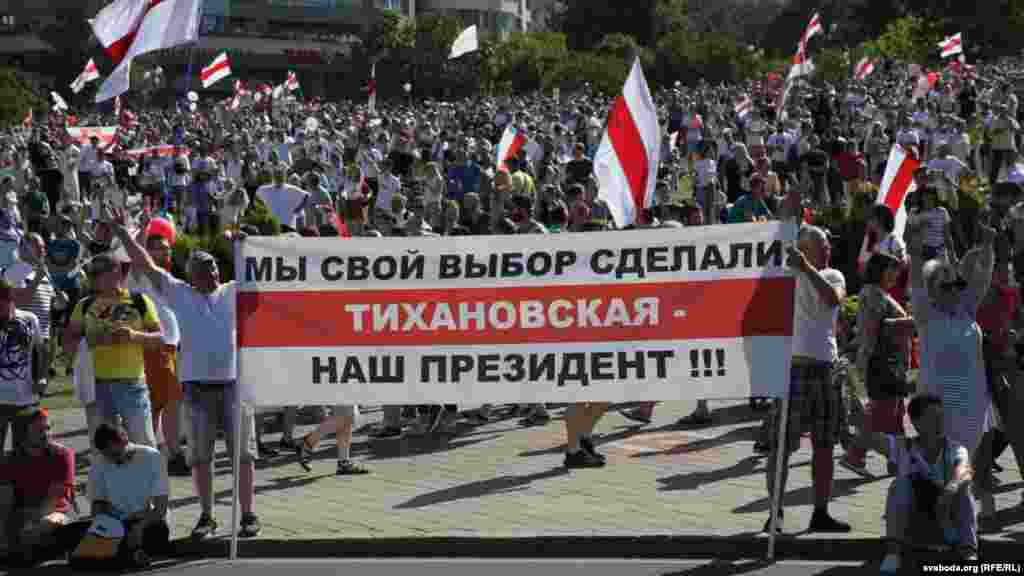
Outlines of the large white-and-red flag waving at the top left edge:
[[116,0],[89,20],[115,66],[96,101],[128,91],[128,69],[135,56],[195,42],[200,4],[201,0]]

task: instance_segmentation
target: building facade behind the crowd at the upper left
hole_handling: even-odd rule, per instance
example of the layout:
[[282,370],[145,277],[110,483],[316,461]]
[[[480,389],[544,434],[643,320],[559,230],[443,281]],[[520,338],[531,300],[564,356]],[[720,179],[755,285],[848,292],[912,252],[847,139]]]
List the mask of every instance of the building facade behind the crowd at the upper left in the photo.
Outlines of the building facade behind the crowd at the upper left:
[[[137,59],[138,67],[164,68],[176,91],[195,89],[199,68],[227,52],[237,77],[250,84],[280,84],[295,71],[307,95],[357,93],[369,65],[357,61],[366,37],[382,10],[415,17],[441,13],[476,25],[483,34],[529,30],[554,0],[204,0],[200,41]],[[0,61],[58,90],[90,56],[100,73],[105,57],[86,20],[111,0],[0,0]],[[358,82],[344,81],[359,78]],[[383,79],[382,79],[383,80]],[[402,83],[404,80],[401,81]],[[231,89],[221,82],[211,95]],[[381,85],[382,93],[386,91]]]

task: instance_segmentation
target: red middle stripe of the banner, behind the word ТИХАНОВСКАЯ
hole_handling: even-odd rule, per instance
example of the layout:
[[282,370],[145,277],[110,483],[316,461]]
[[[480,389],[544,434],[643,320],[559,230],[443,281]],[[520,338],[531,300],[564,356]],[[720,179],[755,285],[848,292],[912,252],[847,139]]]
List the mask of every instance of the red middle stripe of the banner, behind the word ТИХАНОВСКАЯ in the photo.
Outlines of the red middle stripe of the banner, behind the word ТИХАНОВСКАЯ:
[[[286,348],[438,346],[788,336],[793,334],[793,290],[792,278],[774,278],[502,289],[243,292],[238,296],[239,345]],[[638,318],[635,306],[643,298],[656,298],[656,322]],[[595,318],[599,324],[604,324],[613,316],[615,299],[625,304],[627,316],[634,325],[617,322],[595,327]],[[594,306],[594,300],[600,303],[588,308]],[[519,318],[520,305],[526,301],[543,304],[539,308],[543,311],[540,313],[543,325],[523,327]],[[558,301],[562,302],[560,306],[552,306]],[[509,315],[514,314],[514,325],[490,324],[489,308],[496,302],[499,305],[493,307],[501,311],[497,313],[497,322],[509,322]],[[435,318],[441,303],[451,310],[452,315],[446,318],[455,323],[455,329],[444,327],[443,322],[438,324],[440,328],[426,329],[425,326],[443,317]],[[475,307],[477,303],[484,304],[483,325],[471,322],[465,330],[459,330],[460,304]],[[369,304],[371,308],[360,315],[362,330],[356,329],[356,315],[345,310],[346,305],[358,304]],[[374,331],[374,304],[397,306],[396,330]],[[411,322],[409,308],[402,304],[410,307],[422,304],[416,318],[423,324]],[[622,306],[617,307],[622,312]],[[554,320],[549,314],[554,315]],[[581,318],[586,319],[584,325],[581,325]],[[567,320],[573,320],[567,327],[552,326]]]

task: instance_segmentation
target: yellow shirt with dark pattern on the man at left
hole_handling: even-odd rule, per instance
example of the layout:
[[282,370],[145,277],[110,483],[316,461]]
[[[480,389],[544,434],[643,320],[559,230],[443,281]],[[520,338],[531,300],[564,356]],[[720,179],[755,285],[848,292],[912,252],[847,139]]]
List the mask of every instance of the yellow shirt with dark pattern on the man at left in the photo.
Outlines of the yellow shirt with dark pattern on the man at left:
[[97,380],[141,380],[145,377],[141,344],[97,346],[92,343],[96,336],[109,333],[117,326],[127,326],[139,332],[160,330],[160,319],[153,300],[145,295],[140,297],[145,304],[144,314],[136,307],[127,290],[122,290],[117,299],[95,297],[84,320],[84,299],[75,306],[71,321],[82,326],[85,338],[92,347]]

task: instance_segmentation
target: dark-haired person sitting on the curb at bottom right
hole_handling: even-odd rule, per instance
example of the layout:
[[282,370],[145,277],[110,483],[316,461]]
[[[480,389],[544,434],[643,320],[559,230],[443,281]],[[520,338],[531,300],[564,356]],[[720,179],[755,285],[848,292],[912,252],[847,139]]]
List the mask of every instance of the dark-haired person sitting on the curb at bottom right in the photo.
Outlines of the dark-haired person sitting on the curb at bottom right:
[[914,397],[907,411],[916,438],[865,433],[856,441],[897,466],[886,499],[888,543],[882,573],[899,573],[901,552],[910,542],[938,538],[957,546],[964,561],[977,562],[978,509],[967,448],[946,437],[939,397]]

